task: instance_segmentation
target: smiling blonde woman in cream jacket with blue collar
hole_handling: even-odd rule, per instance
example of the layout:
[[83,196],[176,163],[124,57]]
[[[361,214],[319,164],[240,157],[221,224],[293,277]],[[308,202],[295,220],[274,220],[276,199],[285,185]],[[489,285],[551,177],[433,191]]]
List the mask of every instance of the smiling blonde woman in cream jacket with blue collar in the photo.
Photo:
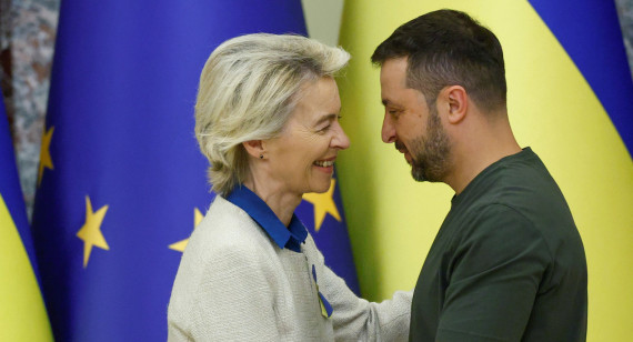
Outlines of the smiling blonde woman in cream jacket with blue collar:
[[200,78],[195,135],[218,197],[194,230],[169,304],[169,340],[404,340],[411,293],[369,303],[324,265],[294,215],[330,188],[350,141],[333,76],[342,49],[298,36],[222,43]]

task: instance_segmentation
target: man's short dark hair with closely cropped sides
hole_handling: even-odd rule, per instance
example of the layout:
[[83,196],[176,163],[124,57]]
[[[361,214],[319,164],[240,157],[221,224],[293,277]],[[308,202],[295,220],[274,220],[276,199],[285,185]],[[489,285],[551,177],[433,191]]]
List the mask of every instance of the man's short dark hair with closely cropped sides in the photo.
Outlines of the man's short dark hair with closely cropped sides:
[[448,86],[461,86],[484,111],[505,108],[505,67],[501,43],[469,14],[439,10],[418,17],[383,41],[371,60],[408,58],[406,87],[434,103]]

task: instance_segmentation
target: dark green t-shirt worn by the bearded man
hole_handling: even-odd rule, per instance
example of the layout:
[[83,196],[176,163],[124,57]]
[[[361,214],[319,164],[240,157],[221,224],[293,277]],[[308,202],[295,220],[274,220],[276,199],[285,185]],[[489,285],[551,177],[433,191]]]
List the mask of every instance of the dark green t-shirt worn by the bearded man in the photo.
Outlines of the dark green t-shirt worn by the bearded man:
[[452,200],[413,294],[411,341],[584,341],[586,260],[530,148]]

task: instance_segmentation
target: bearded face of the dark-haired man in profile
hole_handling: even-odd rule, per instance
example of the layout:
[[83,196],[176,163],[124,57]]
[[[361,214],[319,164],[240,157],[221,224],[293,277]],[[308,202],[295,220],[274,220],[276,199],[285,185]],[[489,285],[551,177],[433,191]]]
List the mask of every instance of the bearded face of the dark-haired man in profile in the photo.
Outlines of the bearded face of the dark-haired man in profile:
[[450,139],[434,105],[406,88],[406,58],[386,60],[380,72],[384,104],[382,141],[393,142],[416,181],[442,181],[451,168]]

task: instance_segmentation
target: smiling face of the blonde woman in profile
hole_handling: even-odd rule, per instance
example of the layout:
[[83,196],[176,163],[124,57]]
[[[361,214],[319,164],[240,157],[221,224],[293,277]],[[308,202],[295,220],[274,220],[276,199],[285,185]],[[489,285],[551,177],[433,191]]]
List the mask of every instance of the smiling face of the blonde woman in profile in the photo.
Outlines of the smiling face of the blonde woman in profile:
[[334,160],[350,140],[339,124],[341,99],[332,78],[321,78],[303,88],[294,112],[280,137],[267,140],[269,177],[281,191],[302,195],[330,188]]

